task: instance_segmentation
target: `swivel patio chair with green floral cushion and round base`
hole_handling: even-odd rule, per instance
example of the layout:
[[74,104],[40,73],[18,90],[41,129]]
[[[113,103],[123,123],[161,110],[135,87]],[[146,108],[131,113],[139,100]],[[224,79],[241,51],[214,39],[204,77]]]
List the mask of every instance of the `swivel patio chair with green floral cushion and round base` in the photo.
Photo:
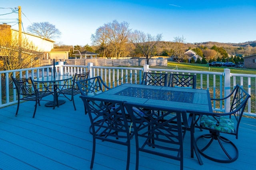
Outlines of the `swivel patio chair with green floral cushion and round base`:
[[[201,135],[196,139],[200,154],[210,160],[221,163],[230,163],[237,160],[238,148],[232,141],[221,136],[221,133],[235,135],[236,139],[238,139],[239,124],[250,97],[251,96],[237,84],[230,95],[221,99],[212,99],[216,102],[224,102],[224,100],[231,98],[230,112],[200,116],[200,128],[210,131],[210,134]],[[215,145],[214,141],[218,141],[218,143],[215,142]],[[216,148],[218,145],[219,147]],[[199,146],[204,147],[199,149]],[[220,150],[223,152],[220,153]]]

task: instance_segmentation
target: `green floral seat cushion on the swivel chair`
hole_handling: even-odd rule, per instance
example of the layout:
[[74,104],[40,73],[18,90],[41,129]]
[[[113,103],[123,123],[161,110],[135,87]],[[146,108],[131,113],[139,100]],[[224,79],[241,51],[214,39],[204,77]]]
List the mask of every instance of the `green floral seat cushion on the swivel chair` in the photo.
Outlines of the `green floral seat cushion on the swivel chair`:
[[234,121],[223,116],[213,117],[210,115],[203,115],[200,119],[200,125],[202,127],[206,127],[208,129],[212,129],[223,133],[235,132]]

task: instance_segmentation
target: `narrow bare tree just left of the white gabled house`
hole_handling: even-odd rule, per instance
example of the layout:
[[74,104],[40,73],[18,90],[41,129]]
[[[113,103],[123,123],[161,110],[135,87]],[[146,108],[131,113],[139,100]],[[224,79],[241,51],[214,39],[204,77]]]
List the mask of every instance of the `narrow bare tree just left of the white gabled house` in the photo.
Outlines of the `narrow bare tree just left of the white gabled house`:
[[185,38],[183,37],[174,37],[174,44],[172,49],[174,50],[174,57],[176,58],[176,61],[180,63],[181,61],[184,61],[185,59],[188,59],[188,55],[184,54],[186,52],[186,45],[185,45]]

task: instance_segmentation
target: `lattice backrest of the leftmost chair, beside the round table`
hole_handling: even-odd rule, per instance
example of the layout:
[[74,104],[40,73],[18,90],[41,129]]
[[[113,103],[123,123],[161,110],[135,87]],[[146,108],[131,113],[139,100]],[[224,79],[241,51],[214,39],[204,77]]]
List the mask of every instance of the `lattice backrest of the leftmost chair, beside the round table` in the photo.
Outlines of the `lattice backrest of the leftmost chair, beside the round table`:
[[30,78],[14,78],[13,76],[11,76],[11,78],[18,92],[18,97],[20,95],[34,96],[37,93],[36,86],[34,85],[34,82],[31,77]]

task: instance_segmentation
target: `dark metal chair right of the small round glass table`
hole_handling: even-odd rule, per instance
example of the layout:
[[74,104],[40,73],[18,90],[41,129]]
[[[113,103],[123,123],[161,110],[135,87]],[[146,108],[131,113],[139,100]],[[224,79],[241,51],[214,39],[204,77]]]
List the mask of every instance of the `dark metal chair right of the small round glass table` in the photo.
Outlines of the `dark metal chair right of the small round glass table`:
[[[66,97],[68,100],[73,102],[74,105],[74,109],[76,110],[76,105],[75,105],[75,101],[74,101],[74,96],[77,94],[80,94],[80,90],[77,87],[76,82],[80,81],[80,80],[85,80],[88,78],[89,75],[89,70],[87,72],[82,72],[80,74],[75,74],[74,75],[74,79],[72,80],[72,85],[69,84],[64,84],[64,85],[58,85],[58,88],[60,89],[60,91],[58,91],[58,96],[60,94],[64,95],[64,97]],[[68,96],[66,95],[70,95],[70,98],[68,98]]]

